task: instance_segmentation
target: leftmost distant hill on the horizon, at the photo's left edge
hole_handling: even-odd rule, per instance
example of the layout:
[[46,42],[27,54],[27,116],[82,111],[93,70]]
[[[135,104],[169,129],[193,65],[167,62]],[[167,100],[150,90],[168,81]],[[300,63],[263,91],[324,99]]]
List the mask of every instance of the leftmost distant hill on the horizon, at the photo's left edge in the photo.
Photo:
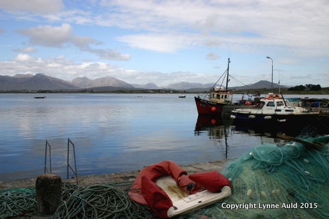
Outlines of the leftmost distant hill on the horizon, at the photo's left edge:
[[77,89],[71,83],[38,73],[36,75],[0,75],[0,90],[59,90],[59,89]]

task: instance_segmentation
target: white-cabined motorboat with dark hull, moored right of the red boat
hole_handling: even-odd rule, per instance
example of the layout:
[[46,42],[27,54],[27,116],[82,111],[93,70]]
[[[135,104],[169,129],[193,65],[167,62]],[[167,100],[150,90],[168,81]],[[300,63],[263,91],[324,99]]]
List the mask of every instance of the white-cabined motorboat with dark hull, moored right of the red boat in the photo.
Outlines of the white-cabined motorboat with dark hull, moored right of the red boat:
[[271,125],[272,127],[279,124],[297,126],[316,119],[315,116],[318,114],[319,112],[312,112],[304,107],[292,107],[283,96],[280,98],[278,94],[270,93],[252,108],[232,110],[230,118],[236,123]]

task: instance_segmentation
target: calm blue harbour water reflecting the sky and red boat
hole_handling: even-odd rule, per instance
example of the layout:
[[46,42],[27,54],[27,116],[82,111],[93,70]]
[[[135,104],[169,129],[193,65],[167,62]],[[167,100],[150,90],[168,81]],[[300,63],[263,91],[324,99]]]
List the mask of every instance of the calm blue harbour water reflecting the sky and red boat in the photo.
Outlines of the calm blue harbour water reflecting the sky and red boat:
[[[40,94],[0,94],[0,181],[43,174],[46,140],[52,172],[63,179],[68,138],[75,144],[78,175],[138,170],[164,159],[178,164],[230,159],[280,142],[237,129],[230,120],[198,117],[194,94],[34,96]],[[72,157],[70,163],[74,167]]]

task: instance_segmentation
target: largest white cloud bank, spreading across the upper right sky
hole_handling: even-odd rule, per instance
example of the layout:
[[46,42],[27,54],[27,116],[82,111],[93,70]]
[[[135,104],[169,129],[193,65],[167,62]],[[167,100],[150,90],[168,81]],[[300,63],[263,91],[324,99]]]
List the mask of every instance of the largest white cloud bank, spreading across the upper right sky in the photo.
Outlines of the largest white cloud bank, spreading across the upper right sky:
[[118,38],[139,49],[173,52],[199,44],[230,44],[230,49],[243,52],[284,47],[291,54],[329,55],[329,8],[324,1],[103,0],[101,5],[109,12],[95,22],[143,30]]

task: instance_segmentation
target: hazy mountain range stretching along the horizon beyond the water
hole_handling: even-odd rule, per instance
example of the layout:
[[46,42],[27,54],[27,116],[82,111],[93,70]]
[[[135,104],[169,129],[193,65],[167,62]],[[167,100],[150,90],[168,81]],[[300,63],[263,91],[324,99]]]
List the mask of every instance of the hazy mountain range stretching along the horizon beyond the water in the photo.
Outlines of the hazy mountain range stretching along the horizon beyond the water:
[[[0,75],[0,90],[141,90],[141,89],[173,89],[186,90],[186,92],[200,92],[209,90],[213,83],[189,83],[179,82],[172,83],[167,86],[158,87],[155,83],[147,84],[130,84],[121,81],[114,77],[102,77],[97,79],[88,79],[87,77],[76,77],[72,81],[64,81],[56,77],[51,77],[42,73],[32,74],[17,74],[14,76]],[[273,83],[273,88],[277,88],[278,84]],[[230,89],[261,89],[271,88],[271,82],[258,81],[247,86],[231,87]],[[281,86],[284,88],[284,86]]]

